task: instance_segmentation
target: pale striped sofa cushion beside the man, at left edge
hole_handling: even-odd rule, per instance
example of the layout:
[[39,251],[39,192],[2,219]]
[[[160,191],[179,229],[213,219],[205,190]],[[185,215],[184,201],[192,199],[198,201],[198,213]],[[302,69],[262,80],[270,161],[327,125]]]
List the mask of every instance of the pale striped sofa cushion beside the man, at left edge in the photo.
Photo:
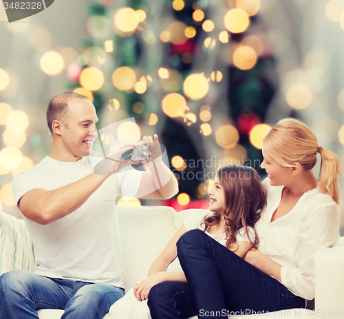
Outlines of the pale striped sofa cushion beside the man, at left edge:
[[34,271],[32,243],[23,220],[0,211],[0,275],[16,269]]

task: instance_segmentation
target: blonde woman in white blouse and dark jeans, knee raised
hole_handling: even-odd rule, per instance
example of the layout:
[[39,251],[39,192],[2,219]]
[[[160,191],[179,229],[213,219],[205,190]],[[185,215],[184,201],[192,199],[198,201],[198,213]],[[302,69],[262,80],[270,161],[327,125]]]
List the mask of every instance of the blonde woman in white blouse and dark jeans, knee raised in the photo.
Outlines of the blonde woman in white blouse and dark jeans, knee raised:
[[[314,254],[339,233],[338,157],[305,124],[278,122],[263,142],[266,206],[255,229],[259,249],[243,259],[192,230],[177,243],[188,285],[151,289],[153,319],[213,318],[305,307],[314,298]],[[320,180],[312,173],[321,156]]]

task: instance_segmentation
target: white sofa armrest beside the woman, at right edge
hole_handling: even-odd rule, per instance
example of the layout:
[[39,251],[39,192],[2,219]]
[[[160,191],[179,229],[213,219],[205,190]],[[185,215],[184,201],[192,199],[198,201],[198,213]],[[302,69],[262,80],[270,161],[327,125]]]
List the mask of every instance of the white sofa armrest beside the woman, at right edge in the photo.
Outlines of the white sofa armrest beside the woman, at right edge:
[[315,310],[344,318],[344,238],[315,256]]

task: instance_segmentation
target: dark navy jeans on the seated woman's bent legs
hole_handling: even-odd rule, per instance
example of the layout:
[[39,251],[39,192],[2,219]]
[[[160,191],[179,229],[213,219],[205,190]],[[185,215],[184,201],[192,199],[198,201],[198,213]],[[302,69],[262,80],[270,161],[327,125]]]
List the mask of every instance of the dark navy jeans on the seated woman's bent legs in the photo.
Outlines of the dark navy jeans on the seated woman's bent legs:
[[[151,288],[148,305],[153,319],[224,317],[304,308],[275,278],[264,274],[202,230],[191,230],[177,243],[188,283],[160,283]],[[213,315],[213,316],[212,316]]]

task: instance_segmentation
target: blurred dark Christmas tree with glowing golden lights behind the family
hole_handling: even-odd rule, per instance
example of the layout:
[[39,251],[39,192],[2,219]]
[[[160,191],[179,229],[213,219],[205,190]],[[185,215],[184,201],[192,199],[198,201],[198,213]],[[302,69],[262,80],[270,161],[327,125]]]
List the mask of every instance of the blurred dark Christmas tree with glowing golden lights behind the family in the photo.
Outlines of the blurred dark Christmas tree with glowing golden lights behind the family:
[[259,8],[259,0],[93,1],[68,89],[94,102],[101,126],[134,117],[142,135],[158,133],[180,192],[202,199],[223,164],[261,173],[261,123],[277,76]]

